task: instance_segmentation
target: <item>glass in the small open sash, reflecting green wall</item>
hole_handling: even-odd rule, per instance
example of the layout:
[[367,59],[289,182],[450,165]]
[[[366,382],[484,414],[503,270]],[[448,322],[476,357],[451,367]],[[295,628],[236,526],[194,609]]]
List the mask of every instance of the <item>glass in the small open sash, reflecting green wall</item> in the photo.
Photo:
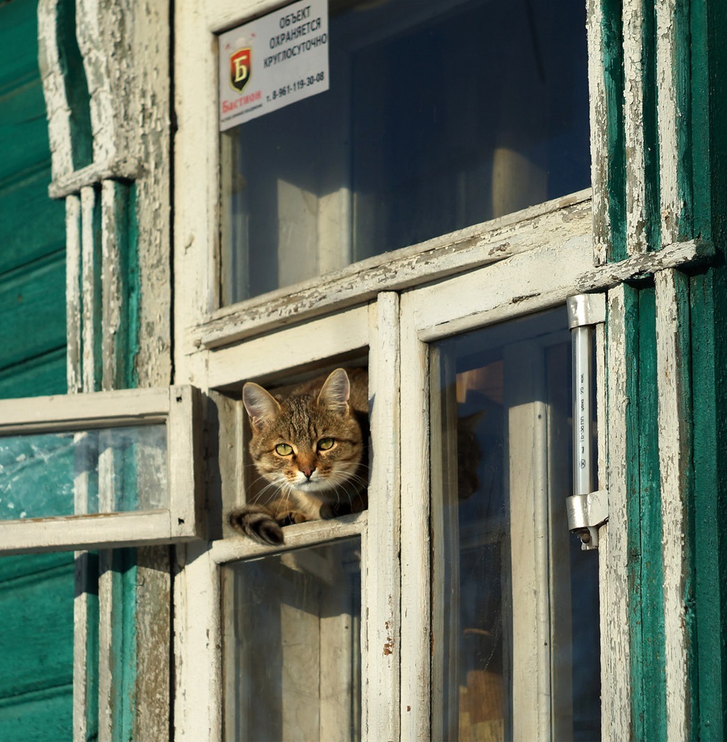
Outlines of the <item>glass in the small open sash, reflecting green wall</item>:
[[0,438],[0,520],[165,508],[165,425]]

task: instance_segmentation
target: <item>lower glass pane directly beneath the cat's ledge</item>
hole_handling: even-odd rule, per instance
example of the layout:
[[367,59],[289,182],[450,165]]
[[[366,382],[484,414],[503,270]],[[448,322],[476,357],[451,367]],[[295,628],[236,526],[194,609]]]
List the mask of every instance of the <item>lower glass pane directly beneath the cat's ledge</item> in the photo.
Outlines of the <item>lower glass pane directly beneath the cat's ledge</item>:
[[228,565],[228,740],[361,736],[361,539]]

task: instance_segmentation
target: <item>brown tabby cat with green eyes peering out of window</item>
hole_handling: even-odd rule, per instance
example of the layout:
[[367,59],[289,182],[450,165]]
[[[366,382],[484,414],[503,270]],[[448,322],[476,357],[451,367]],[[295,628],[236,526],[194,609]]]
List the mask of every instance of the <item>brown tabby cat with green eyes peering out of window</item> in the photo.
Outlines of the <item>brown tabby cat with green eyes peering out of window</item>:
[[243,387],[251,459],[266,486],[231,511],[232,528],[282,544],[280,526],[358,513],[367,506],[368,374],[336,369],[273,396]]

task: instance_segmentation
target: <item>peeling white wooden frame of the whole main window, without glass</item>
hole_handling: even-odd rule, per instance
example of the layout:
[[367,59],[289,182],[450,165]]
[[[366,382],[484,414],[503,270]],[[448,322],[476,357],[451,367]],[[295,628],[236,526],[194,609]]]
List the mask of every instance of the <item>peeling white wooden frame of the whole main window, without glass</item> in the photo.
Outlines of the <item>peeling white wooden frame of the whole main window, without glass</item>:
[[[175,369],[177,378],[194,380],[216,399],[231,430],[240,431],[244,413],[229,391],[237,390],[239,396],[243,381],[279,380],[286,372],[323,367],[330,359],[368,347],[369,395],[376,403],[369,510],[286,527],[284,548],[361,535],[362,615],[368,617],[362,621],[361,637],[362,737],[427,739],[432,649],[429,344],[559,306],[573,294],[609,291],[631,278],[699,262],[710,248],[697,240],[672,243],[659,252],[635,252],[619,263],[604,264],[604,187],[596,166],[604,162],[605,146],[599,140],[602,128],[596,125],[595,204],[589,188],[220,307],[219,132],[216,109],[200,106],[199,101],[217,99],[216,34],[283,4],[200,0],[194,11],[179,10],[175,16],[181,50],[176,71],[183,81],[176,90],[179,129],[174,149],[181,181],[175,188]],[[596,91],[591,97],[597,102],[602,99],[597,13],[588,22],[590,82]],[[592,108],[594,121],[599,120],[596,113]],[[185,183],[194,185],[185,188]],[[625,494],[616,467],[623,453],[623,410],[616,371],[627,359],[619,347],[617,322],[611,321],[608,332],[607,381],[606,331],[603,326],[596,330],[599,470],[605,479],[601,486],[608,487],[620,507]],[[384,409],[389,410],[385,416]],[[406,455],[401,450],[403,437],[409,444]],[[229,450],[220,457],[220,478],[228,507],[243,502],[243,441],[228,431],[226,444]],[[280,551],[233,535],[223,525],[219,530],[211,542],[178,549],[182,571],[174,585],[174,727],[180,740],[223,735],[222,565]],[[622,522],[617,518],[603,525],[599,541],[602,718],[608,736],[621,729],[617,717],[628,708]],[[548,738],[550,729],[543,723],[533,704],[519,727],[521,736]]]

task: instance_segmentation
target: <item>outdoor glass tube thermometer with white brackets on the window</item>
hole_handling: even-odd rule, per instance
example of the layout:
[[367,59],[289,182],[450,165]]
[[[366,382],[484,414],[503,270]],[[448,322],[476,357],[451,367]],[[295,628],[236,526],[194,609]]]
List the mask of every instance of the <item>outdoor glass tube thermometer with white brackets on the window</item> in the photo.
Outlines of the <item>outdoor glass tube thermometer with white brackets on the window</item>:
[[567,301],[573,345],[573,496],[568,497],[568,528],[581,548],[598,548],[598,527],[608,520],[608,493],[595,490],[593,467],[593,329],[606,321],[603,294],[578,294]]

